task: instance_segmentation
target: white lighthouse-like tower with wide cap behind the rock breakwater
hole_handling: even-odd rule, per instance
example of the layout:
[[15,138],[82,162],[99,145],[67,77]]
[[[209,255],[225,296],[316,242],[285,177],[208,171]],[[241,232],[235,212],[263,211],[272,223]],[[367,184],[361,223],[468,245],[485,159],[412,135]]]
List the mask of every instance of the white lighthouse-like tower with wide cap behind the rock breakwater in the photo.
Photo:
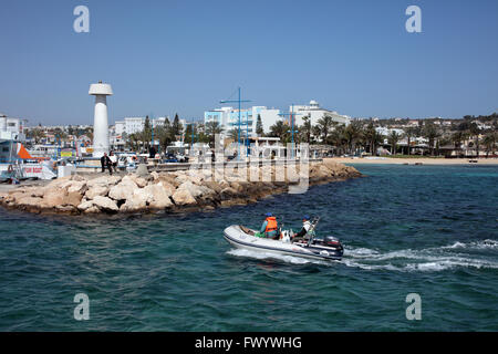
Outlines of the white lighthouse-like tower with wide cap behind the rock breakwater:
[[107,123],[107,100],[106,96],[113,94],[110,84],[90,85],[90,95],[95,96],[95,115],[93,118],[93,157],[102,157],[108,153],[108,123]]

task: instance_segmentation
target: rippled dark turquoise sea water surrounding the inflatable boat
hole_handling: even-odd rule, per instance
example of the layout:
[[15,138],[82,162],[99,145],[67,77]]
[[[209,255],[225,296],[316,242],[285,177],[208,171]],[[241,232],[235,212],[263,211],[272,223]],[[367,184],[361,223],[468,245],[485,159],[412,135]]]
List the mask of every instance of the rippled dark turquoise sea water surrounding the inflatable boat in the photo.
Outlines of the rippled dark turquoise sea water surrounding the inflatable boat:
[[[498,167],[356,166],[367,177],[189,215],[0,210],[0,331],[497,331]],[[232,250],[222,230],[321,216],[340,263]],[[90,298],[75,321],[73,298]],[[422,320],[408,321],[408,293]]]

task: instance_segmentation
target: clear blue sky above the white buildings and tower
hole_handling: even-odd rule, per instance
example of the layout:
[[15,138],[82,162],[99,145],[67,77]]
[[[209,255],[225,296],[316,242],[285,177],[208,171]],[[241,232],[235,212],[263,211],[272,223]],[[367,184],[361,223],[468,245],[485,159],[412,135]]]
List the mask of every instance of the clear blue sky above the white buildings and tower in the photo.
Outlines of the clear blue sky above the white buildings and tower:
[[[90,9],[75,33],[73,9]],[[405,9],[422,9],[422,33]],[[89,85],[113,85],[110,121],[200,117],[240,85],[253,105],[317,100],[351,116],[498,111],[498,1],[2,0],[0,112],[92,124]]]

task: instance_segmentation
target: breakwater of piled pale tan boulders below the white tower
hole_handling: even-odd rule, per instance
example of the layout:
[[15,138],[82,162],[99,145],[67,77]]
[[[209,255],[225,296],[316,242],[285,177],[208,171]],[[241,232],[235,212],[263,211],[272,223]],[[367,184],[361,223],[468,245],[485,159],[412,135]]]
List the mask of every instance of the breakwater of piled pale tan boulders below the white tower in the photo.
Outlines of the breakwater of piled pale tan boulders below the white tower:
[[[124,177],[73,175],[54,179],[46,186],[20,186],[0,194],[0,205],[28,212],[65,215],[212,210],[287,192],[290,186],[298,185],[299,176],[303,176],[299,166],[292,171],[283,166],[278,170],[274,166],[267,168],[271,181],[261,181],[268,180],[262,178],[261,167],[241,169],[241,173],[259,176],[257,181],[240,178],[237,169],[224,170],[222,178],[217,176],[215,169],[153,171],[145,176],[131,174]],[[288,178],[291,173],[299,176]],[[276,181],[280,180],[279,176],[286,177]],[[361,176],[354,167],[331,160],[311,163],[307,173],[310,186]]]

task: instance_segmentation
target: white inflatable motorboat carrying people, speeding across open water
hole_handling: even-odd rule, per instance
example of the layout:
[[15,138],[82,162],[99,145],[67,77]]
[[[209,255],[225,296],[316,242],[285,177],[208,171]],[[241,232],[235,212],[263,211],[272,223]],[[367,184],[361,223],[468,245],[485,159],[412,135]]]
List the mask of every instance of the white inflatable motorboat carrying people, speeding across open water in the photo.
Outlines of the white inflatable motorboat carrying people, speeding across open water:
[[232,225],[225,229],[225,239],[234,247],[276,254],[295,256],[315,260],[341,260],[344,249],[334,237],[323,239],[311,238],[309,241],[292,242],[289,231],[278,240],[257,237],[257,231],[241,225]]

